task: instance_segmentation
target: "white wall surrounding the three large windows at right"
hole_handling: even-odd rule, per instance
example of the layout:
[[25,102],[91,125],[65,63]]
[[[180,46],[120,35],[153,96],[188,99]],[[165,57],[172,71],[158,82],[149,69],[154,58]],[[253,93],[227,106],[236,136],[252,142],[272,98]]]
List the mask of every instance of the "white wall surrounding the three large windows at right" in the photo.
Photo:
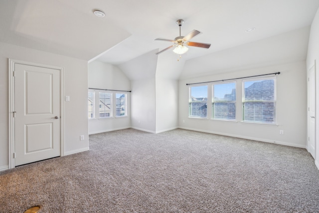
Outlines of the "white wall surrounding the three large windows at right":
[[[237,80],[236,83],[237,122],[188,118],[188,86],[186,86],[186,83],[206,82],[274,72],[281,72],[280,75],[277,75],[278,126],[241,122],[242,80]],[[303,61],[179,80],[179,127],[305,148],[307,121],[306,75],[306,63]],[[208,84],[208,88],[211,88],[211,83]],[[211,92],[208,95],[211,96]],[[211,103],[207,103],[208,118],[211,118],[210,106]],[[284,130],[284,135],[279,135],[279,130]]]

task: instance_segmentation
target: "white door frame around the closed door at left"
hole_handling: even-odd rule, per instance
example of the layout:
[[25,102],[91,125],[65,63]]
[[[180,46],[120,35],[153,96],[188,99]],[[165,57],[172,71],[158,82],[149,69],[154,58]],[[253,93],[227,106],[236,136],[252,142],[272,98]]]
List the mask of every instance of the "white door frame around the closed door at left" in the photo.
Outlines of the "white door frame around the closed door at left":
[[60,153],[64,156],[64,69],[61,67],[31,63],[21,60],[14,60],[9,58],[9,169],[14,168],[14,65],[24,64],[30,66],[45,67],[60,70]]

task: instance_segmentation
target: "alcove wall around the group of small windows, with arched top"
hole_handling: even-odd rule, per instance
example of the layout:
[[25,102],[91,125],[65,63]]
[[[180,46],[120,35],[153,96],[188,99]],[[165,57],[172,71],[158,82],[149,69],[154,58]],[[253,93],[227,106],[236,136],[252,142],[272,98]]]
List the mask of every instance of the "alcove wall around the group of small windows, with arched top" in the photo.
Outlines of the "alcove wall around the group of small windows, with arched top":
[[[117,67],[99,61],[93,61],[88,65],[88,85],[89,88],[113,89],[113,90],[131,90],[129,78]],[[99,91],[99,90],[97,90]],[[115,96],[113,96],[115,103]],[[89,134],[107,132],[131,127],[131,93],[127,93],[127,116],[112,117],[104,119],[89,120]],[[113,115],[116,109],[113,107]]]

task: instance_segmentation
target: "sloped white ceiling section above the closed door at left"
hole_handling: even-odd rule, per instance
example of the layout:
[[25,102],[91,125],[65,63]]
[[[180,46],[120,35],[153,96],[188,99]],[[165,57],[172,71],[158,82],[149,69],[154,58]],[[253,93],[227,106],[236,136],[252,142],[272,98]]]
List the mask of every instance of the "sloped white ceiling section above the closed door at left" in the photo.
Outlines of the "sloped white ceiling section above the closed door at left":
[[64,0],[1,0],[0,41],[90,60],[131,34]]

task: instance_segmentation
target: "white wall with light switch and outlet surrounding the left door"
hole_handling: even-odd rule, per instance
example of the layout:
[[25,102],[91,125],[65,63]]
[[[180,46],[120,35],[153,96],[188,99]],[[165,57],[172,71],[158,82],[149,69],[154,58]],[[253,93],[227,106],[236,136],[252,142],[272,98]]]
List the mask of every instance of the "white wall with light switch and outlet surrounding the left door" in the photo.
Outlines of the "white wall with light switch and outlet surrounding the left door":
[[[64,68],[64,151],[88,150],[87,61],[0,42],[0,170],[8,168],[8,58]],[[84,141],[80,141],[84,135]]]

